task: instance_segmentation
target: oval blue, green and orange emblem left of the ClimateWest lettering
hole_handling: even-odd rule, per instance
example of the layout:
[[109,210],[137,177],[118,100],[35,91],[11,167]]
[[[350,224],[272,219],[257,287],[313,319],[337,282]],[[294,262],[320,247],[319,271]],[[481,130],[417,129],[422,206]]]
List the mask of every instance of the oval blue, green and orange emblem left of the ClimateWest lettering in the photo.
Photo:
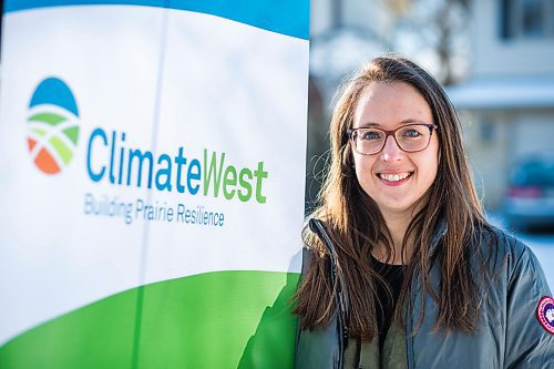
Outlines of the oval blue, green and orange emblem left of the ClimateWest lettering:
[[79,111],[70,88],[48,78],[29,104],[27,142],[31,158],[47,174],[57,174],[73,158],[79,140]]

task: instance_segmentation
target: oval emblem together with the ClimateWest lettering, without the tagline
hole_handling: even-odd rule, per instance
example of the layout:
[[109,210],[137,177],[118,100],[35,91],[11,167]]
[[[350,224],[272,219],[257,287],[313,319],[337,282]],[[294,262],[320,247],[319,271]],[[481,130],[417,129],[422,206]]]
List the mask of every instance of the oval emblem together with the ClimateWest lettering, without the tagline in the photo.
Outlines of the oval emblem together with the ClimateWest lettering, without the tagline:
[[[60,79],[39,83],[29,104],[28,144],[37,167],[60,173],[74,156],[80,134],[79,111],[70,88]],[[234,165],[225,152],[204,148],[196,156],[186,145],[160,147],[156,152],[136,146],[130,133],[98,126],[86,144],[86,172],[92,182],[114,186],[146,187],[158,192],[187,193],[227,201],[265,204],[265,163]],[[89,209],[93,197],[85,196]],[[178,212],[177,212],[178,213]]]

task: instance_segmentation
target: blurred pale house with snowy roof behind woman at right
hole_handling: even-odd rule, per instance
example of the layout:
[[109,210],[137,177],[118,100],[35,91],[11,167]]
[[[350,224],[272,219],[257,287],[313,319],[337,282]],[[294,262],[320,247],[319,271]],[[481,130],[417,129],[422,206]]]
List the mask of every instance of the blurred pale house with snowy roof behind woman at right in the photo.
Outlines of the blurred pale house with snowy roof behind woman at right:
[[478,189],[494,211],[515,163],[554,151],[554,1],[473,0],[471,31],[470,75],[448,93]]

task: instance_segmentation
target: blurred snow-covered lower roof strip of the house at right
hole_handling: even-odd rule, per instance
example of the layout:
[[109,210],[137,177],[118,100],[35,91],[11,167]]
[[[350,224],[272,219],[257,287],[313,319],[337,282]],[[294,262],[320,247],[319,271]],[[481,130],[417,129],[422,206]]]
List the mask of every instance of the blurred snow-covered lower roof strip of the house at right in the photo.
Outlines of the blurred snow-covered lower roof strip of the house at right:
[[473,78],[445,90],[456,109],[554,107],[554,75]]

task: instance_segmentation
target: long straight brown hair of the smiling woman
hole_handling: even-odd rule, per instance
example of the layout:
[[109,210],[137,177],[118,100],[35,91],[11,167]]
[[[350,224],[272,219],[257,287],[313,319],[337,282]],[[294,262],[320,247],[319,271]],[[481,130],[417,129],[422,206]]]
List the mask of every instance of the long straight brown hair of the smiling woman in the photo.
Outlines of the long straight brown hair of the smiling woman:
[[[387,283],[375,273],[370,255],[378,244],[386,246],[389,256],[392,254],[384,219],[356,177],[347,136],[357,104],[370,82],[412,85],[425,99],[433,123],[439,126],[437,178],[421,199],[420,211],[413,215],[403,238],[403,249],[409,240],[413,243],[413,252],[406,267],[407,277],[394,317],[402,319],[404,303],[409,303],[409,308],[413,305],[407,296],[417,274],[422,306],[419,321],[424,317],[424,296],[430,294],[438,306],[435,329],[474,331],[479,319],[478,283],[469,260],[479,252],[470,245],[479,243],[479,228],[489,226],[471,180],[459,116],[444,90],[427,71],[404,58],[387,55],[375,59],[351,78],[335,106],[330,125],[331,162],[312,214],[325,222],[336,248],[338,275],[343,278],[350,299],[349,334],[369,340],[377,335],[375,311],[381,307],[376,298],[376,285],[387,286]],[[448,228],[431,253],[433,235],[444,223]],[[301,329],[308,329],[329,324],[337,312],[334,304],[337,291],[328,277],[330,263],[321,240],[307,228],[302,239],[314,257],[295,296],[295,312],[300,317]],[[429,277],[432,263],[441,275],[435,286]]]

